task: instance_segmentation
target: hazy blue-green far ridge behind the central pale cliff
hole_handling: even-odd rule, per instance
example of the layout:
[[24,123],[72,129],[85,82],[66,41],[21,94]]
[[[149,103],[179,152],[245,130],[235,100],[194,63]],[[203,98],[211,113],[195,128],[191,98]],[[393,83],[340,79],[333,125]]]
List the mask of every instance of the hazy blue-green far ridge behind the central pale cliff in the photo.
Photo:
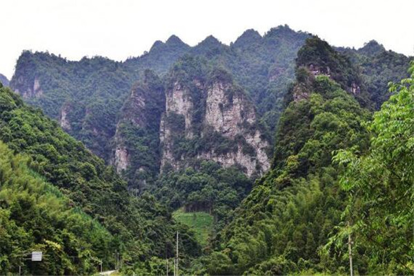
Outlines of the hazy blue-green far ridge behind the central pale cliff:
[[259,117],[264,115],[270,133],[282,108],[286,84],[293,79],[296,52],[307,36],[279,26],[264,37],[248,30],[231,46],[208,37],[193,48],[172,36],[123,63],[104,57],[68,61],[48,52],[25,51],[10,86],[109,163],[115,158],[112,141],[133,84],[145,78],[146,69],[166,75],[184,54],[206,57],[232,73],[253,99]]

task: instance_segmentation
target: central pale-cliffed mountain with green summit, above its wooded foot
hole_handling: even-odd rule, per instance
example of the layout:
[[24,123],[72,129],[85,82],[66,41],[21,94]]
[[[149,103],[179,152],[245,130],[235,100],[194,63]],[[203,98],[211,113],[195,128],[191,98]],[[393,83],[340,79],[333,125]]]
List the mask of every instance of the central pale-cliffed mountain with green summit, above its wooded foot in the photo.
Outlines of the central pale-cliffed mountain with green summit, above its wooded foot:
[[268,141],[253,103],[225,70],[188,57],[168,75],[166,112],[161,118],[161,170],[197,159],[242,166],[248,176],[269,167]]

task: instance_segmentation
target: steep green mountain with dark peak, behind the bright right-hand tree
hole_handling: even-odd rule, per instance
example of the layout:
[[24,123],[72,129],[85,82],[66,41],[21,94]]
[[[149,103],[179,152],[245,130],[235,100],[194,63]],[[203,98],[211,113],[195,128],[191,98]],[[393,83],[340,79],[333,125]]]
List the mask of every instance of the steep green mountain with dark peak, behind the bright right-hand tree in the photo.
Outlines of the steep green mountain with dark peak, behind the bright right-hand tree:
[[[204,269],[195,273],[337,274],[348,266],[342,255],[348,250],[344,239],[348,239],[349,230],[342,216],[346,216],[346,203],[351,202],[353,194],[348,197],[342,190],[339,174],[343,167],[332,163],[332,158],[342,148],[350,148],[358,155],[368,151],[370,134],[364,122],[371,118],[370,105],[358,97],[365,88],[359,83],[357,68],[348,57],[317,37],[307,39],[299,50],[296,77],[279,121],[272,168],[257,180],[235,210],[233,221],[213,241],[215,250],[200,259],[202,265],[197,267]],[[357,86],[362,87],[353,90]],[[404,193],[404,189],[399,191]],[[366,207],[370,202],[366,202]],[[355,204],[359,206],[358,202]],[[335,226],[344,229],[342,234]],[[388,234],[393,239],[408,240],[412,231],[404,229]],[[362,243],[357,237],[358,249],[354,248],[353,257],[358,273],[410,271],[404,268],[409,262],[406,257],[410,246],[400,244],[397,249],[404,256],[403,262],[387,253],[384,267],[384,262],[369,257],[378,248],[372,249],[372,242]]]

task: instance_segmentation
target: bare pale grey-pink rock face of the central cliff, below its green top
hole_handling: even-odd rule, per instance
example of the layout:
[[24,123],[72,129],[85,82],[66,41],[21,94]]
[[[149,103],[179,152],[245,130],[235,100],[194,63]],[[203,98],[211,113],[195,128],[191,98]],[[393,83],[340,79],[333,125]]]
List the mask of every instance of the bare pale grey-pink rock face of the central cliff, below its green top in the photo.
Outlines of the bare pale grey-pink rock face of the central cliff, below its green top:
[[[189,97],[188,88],[175,82],[170,91],[166,92],[166,112],[161,119],[160,141],[162,146],[161,170],[169,164],[178,170],[190,166],[195,160],[208,159],[217,161],[224,167],[242,166],[246,175],[262,174],[270,167],[266,154],[268,141],[256,124],[255,108],[248,101],[241,88],[233,81],[193,81],[199,88],[202,97],[198,97],[203,104],[194,102]],[[193,121],[195,106],[205,106],[204,117],[201,122]],[[171,119],[171,117],[175,119]],[[184,124],[179,124],[181,117]],[[190,132],[192,124],[201,124],[200,132]],[[224,137],[224,141],[231,144],[231,148],[223,150],[217,148],[203,148],[203,143],[209,143],[206,137],[212,135]],[[191,133],[191,135],[188,135]],[[217,136],[216,136],[217,137]],[[177,140],[181,144],[201,144],[197,149],[177,155]]]

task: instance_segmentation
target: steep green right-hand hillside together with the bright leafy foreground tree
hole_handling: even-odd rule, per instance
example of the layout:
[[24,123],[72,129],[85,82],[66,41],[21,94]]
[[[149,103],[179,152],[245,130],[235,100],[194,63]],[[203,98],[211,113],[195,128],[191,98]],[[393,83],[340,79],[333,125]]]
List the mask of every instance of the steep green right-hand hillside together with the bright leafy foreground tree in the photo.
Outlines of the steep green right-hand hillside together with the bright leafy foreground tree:
[[[413,273],[408,257],[414,248],[408,226],[413,224],[413,179],[404,165],[412,159],[412,79],[393,88],[401,91],[367,124],[371,115],[361,106],[366,101],[359,103],[357,95],[344,90],[358,83],[357,71],[336,70],[335,64],[351,65],[346,57],[312,38],[299,50],[297,62],[297,82],[279,121],[273,168],[256,181],[235,219],[213,241],[215,251],[201,259],[204,269],[200,266],[197,273],[346,273],[349,233],[354,235],[357,273]],[[401,132],[402,139],[393,132]],[[354,155],[336,155],[346,148]],[[359,155],[366,157],[359,161]],[[349,164],[348,170],[343,164]]]

